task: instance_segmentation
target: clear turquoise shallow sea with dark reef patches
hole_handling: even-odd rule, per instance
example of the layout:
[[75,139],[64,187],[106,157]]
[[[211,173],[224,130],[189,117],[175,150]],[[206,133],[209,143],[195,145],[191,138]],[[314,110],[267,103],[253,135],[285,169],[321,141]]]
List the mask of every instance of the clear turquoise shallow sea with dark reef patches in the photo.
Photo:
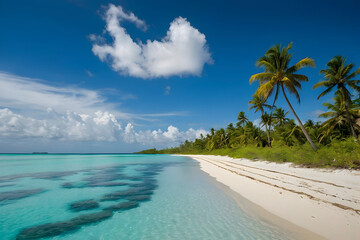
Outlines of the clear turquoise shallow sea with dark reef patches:
[[289,238],[187,157],[1,154],[0,239]]

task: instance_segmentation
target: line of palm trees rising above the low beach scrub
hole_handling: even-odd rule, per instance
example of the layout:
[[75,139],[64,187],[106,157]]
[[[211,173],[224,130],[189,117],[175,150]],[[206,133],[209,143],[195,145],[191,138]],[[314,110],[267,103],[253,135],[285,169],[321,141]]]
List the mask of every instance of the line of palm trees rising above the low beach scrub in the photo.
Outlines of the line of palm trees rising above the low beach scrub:
[[[301,122],[288,95],[293,95],[300,103],[302,82],[309,79],[298,71],[305,67],[315,67],[315,61],[304,58],[290,66],[292,53],[287,46],[277,44],[266,51],[256,61],[256,66],[263,71],[250,77],[250,84],[258,82],[259,86],[249,101],[249,110],[260,114],[260,125],[249,121],[245,112],[237,116],[237,122],[215,130],[212,128],[206,136],[201,135],[194,141],[185,141],[172,152],[212,151],[214,149],[240,148],[253,145],[257,147],[299,146],[308,142],[316,151],[321,146],[331,144],[334,140],[353,139],[358,144],[360,133],[360,68],[347,63],[343,56],[333,57],[326,68],[320,70],[323,80],[313,86],[323,91],[317,99],[333,94],[332,102],[324,103],[327,111],[319,115],[323,122],[312,120]],[[283,95],[294,119],[289,112],[276,102]],[[272,97],[272,99],[270,99]],[[270,101],[271,100],[271,101]],[[170,149],[169,149],[170,150]]]

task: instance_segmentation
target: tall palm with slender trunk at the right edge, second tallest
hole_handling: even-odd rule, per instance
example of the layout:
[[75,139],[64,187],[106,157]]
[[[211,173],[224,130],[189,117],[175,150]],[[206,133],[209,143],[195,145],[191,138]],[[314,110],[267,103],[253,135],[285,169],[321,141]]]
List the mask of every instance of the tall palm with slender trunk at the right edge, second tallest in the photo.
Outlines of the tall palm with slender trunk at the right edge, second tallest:
[[345,101],[344,107],[346,111],[346,119],[350,127],[351,134],[353,135],[355,141],[357,141],[357,134],[350,120],[349,106],[352,105],[352,94],[348,88],[351,88],[360,93],[360,80],[353,80],[356,75],[360,74],[360,68],[355,70],[353,73],[350,73],[355,65],[353,63],[346,65],[346,58],[342,56],[335,56],[326,65],[328,68],[320,71],[326,80],[315,84],[313,89],[322,86],[326,87],[325,91],[320,93],[318,96],[319,99],[320,97],[325,96],[331,92],[335,86],[337,87],[335,94],[341,94]]

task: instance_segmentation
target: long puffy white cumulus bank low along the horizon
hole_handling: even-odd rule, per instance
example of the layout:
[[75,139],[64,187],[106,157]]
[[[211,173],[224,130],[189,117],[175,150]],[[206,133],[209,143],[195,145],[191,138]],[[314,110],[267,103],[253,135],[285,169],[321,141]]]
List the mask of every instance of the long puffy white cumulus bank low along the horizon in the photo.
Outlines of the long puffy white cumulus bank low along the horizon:
[[169,126],[167,131],[145,130],[135,131],[128,123],[121,127],[116,117],[108,112],[97,111],[94,114],[67,112],[58,114],[49,109],[46,119],[35,119],[16,114],[8,108],[0,108],[0,136],[10,138],[45,138],[62,141],[100,141],[139,143],[142,145],[157,144],[175,146],[185,140],[194,140],[200,134],[206,135],[202,129],[179,131]]

